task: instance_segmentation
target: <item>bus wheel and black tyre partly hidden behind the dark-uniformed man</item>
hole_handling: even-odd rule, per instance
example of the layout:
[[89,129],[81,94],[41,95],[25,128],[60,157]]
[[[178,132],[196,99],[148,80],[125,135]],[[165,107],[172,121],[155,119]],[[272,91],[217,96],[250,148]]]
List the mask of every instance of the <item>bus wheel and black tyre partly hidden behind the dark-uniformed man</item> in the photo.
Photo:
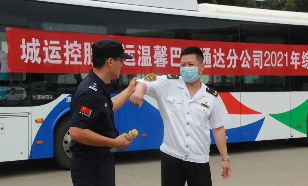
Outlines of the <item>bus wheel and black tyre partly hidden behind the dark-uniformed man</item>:
[[68,145],[71,142],[69,137],[71,118],[64,116],[57,124],[54,132],[54,160],[55,162],[66,169],[70,169],[71,152]]

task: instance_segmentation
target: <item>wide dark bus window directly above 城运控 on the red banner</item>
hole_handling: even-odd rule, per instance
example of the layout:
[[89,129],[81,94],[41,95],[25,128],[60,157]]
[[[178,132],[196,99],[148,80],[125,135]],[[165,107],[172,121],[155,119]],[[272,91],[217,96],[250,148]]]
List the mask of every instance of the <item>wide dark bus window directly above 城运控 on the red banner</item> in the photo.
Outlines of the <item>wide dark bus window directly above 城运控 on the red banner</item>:
[[[35,10],[29,12],[30,29],[115,35],[116,23],[120,19],[117,16],[110,17],[117,15],[117,10],[45,2],[28,3]],[[38,16],[43,14],[52,16]]]

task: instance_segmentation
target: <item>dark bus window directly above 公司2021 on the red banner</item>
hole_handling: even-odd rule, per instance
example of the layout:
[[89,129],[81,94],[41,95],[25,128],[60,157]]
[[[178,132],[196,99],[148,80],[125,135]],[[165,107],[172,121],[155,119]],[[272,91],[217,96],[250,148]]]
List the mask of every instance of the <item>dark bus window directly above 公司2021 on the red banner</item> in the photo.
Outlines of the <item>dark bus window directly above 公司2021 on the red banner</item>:
[[240,26],[241,42],[289,44],[289,27],[278,24],[242,23]]

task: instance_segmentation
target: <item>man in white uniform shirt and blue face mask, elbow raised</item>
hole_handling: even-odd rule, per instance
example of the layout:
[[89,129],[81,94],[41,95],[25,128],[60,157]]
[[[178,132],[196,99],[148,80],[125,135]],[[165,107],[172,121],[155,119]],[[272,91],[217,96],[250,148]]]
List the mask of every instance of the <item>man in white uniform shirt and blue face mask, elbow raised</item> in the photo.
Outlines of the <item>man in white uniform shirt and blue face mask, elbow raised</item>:
[[181,52],[180,74],[149,74],[137,80],[130,101],[141,107],[143,96],[156,99],[164,121],[162,186],[211,186],[209,166],[210,127],[222,156],[221,177],[230,176],[224,123],[230,121],[219,93],[200,79],[203,53],[198,47]]

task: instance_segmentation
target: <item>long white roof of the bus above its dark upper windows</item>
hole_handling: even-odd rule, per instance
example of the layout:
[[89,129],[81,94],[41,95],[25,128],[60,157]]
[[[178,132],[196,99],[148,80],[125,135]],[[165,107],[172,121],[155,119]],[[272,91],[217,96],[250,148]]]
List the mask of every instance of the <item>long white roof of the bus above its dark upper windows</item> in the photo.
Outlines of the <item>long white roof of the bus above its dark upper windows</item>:
[[[264,23],[277,23],[277,24],[290,24],[290,25],[305,25],[308,26],[308,13],[302,12],[287,12],[278,10],[264,10],[257,8],[244,8],[237,6],[224,6],[214,4],[199,4],[198,11],[192,8],[197,0],[155,0],[152,3],[148,1],[130,1],[127,4],[125,0],[36,0],[44,2],[63,3],[79,6],[101,7],[117,10],[131,10],[140,12],[150,12],[158,14],[172,14],[192,17],[204,18],[217,18],[229,19],[238,21],[251,21],[251,22],[264,22]],[[164,2],[163,2],[164,1]],[[186,5],[187,2],[192,4],[191,8],[182,10],[183,7],[176,6],[176,4]],[[156,4],[153,4],[155,2]],[[185,3],[184,3],[185,2]],[[160,5],[159,5],[160,4]],[[170,8],[170,6],[173,8]],[[155,7],[154,7],[155,6]],[[187,6],[188,7],[188,6]],[[191,9],[191,10],[189,10]]]

